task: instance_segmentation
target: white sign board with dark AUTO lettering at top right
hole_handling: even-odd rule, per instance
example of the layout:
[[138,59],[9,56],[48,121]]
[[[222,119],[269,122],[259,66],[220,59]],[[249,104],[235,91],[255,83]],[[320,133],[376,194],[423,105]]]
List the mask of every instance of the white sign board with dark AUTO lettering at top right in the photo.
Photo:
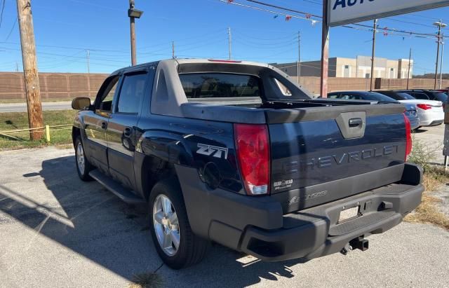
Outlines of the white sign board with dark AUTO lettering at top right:
[[328,0],[328,24],[339,26],[442,6],[449,6],[449,0]]

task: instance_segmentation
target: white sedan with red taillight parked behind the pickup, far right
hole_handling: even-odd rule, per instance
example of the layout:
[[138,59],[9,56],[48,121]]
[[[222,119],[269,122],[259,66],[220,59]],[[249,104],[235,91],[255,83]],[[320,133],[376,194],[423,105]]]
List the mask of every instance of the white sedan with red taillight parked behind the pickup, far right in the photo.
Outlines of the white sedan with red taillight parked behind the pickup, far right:
[[420,126],[440,125],[444,122],[443,102],[435,100],[417,100],[406,92],[376,91],[402,103],[416,104]]

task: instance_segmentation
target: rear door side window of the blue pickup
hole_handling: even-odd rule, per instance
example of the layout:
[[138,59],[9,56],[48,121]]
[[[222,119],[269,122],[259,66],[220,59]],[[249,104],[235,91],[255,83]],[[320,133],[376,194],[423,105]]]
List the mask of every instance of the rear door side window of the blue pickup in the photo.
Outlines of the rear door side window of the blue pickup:
[[126,75],[121,85],[116,112],[138,114],[140,103],[145,95],[147,74]]

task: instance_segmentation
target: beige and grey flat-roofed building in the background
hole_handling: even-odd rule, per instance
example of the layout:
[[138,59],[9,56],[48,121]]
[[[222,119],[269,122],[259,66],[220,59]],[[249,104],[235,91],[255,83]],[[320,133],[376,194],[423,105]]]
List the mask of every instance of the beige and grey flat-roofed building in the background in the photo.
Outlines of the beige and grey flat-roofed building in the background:
[[[297,62],[272,63],[290,76],[297,76]],[[389,60],[375,57],[374,78],[404,79],[408,75],[408,59]],[[321,61],[301,62],[301,76],[321,76]],[[410,78],[413,75],[413,60],[410,64]],[[333,57],[329,58],[329,77],[370,78],[371,57],[357,56],[357,58]]]

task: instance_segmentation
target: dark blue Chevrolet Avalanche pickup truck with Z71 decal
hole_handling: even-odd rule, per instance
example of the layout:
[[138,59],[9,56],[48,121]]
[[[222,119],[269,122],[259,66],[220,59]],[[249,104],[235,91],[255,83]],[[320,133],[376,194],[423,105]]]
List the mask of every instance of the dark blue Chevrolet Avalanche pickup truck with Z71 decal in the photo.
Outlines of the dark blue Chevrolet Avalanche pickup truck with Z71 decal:
[[312,100],[268,64],[140,64],[72,107],[79,177],[145,203],[172,268],[212,241],[264,261],[366,250],[424,190],[403,105]]

